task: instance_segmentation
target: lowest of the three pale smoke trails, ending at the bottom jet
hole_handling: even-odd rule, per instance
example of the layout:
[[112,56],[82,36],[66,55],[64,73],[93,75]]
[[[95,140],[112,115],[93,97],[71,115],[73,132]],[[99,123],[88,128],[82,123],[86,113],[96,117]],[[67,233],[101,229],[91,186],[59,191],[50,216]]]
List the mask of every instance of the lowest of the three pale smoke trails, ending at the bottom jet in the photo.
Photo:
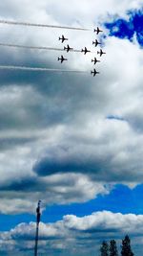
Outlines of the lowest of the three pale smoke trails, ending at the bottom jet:
[[25,71],[45,71],[45,72],[71,72],[71,73],[87,73],[85,70],[68,70],[68,69],[52,69],[46,67],[27,67],[14,65],[0,65],[0,69],[25,70]]

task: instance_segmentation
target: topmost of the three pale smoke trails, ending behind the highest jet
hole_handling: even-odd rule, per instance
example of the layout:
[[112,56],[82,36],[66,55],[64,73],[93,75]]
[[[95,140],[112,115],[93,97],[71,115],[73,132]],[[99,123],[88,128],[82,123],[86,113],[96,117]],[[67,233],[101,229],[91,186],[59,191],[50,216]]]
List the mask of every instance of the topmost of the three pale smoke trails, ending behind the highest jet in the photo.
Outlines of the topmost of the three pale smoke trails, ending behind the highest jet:
[[48,24],[36,24],[36,23],[29,23],[29,22],[10,21],[10,20],[0,20],[0,23],[1,24],[9,24],[9,25],[19,25],[19,26],[51,28],[51,29],[91,31],[90,29],[85,29],[85,28],[76,28],[76,27],[67,27],[67,26],[56,26],[56,25],[48,25]]

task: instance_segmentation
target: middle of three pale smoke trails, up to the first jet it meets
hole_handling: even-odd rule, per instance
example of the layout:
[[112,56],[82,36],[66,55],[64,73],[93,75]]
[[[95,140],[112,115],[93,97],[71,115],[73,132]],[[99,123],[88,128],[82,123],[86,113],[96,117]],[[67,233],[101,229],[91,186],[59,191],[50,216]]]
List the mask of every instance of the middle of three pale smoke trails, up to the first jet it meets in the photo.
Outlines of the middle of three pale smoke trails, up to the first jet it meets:
[[27,45],[9,44],[9,43],[0,43],[0,46],[33,49],[33,50],[65,51],[64,49],[61,49],[61,48],[53,48],[53,47],[46,47],[46,46],[27,46]]

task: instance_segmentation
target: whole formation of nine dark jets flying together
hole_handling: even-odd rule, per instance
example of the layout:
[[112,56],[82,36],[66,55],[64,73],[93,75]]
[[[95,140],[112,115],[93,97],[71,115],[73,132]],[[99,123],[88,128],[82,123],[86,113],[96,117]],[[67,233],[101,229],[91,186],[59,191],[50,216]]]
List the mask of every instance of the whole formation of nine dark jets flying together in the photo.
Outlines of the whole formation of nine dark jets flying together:
[[[93,32],[96,33],[96,35],[98,35],[99,33],[103,32],[102,30],[100,30],[98,27],[96,29],[93,30]],[[68,40],[68,38],[66,38],[64,35],[62,35],[61,37],[58,38],[62,43],[65,41],[65,40]],[[98,45],[101,45],[101,42],[98,41],[97,39],[95,39],[94,41],[92,41],[92,45],[94,45],[95,47],[98,46]],[[84,55],[86,55],[87,53],[91,53],[90,50],[87,49],[87,47],[85,47],[84,49],[81,49],[81,51],[78,51],[78,50],[73,50],[73,48],[71,48],[69,46],[69,44],[66,46],[64,46],[64,50],[67,51],[67,53],[69,53],[70,51],[75,51],[75,52],[81,52],[81,53],[84,53]],[[99,55],[100,57],[102,55],[105,55],[106,53],[102,51],[102,49],[100,49],[100,51],[97,51],[97,55]],[[63,61],[65,60],[68,60],[68,58],[64,58],[63,56],[61,56],[60,58],[58,57],[57,58],[58,61],[60,61],[61,63],[63,63]],[[92,59],[92,62],[93,64],[95,65],[97,62],[100,62],[99,59],[97,58],[93,58]],[[96,71],[96,69],[94,68],[92,71],[91,71],[91,75],[93,77],[95,77],[97,74],[100,74],[100,72]]]

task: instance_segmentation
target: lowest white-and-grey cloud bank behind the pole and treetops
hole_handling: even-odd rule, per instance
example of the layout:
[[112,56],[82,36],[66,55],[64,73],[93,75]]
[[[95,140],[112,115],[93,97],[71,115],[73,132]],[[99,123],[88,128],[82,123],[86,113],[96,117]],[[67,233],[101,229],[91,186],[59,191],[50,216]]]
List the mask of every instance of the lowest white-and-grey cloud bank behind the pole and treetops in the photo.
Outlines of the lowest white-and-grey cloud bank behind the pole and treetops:
[[[65,216],[62,221],[55,223],[41,222],[39,251],[43,254],[51,251],[54,254],[60,250],[61,254],[65,255],[68,250],[71,250],[71,255],[81,255],[87,253],[87,248],[88,250],[91,248],[91,253],[97,253],[103,237],[107,241],[115,238],[119,244],[121,238],[128,233],[132,237],[133,251],[136,252],[135,244],[142,239],[142,221],[141,215],[122,215],[104,211],[92,213],[91,216],[83,218]],[[18,256],[23,255],[24,251],[27,255],[27,249],[33,250],[34,234],[35,223],[20,223],[9,232],[1,232],[0,248],[9,241],[11,253],[17,250]]]

